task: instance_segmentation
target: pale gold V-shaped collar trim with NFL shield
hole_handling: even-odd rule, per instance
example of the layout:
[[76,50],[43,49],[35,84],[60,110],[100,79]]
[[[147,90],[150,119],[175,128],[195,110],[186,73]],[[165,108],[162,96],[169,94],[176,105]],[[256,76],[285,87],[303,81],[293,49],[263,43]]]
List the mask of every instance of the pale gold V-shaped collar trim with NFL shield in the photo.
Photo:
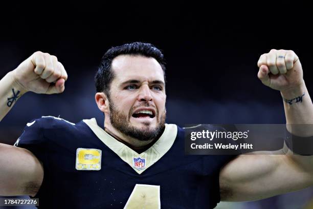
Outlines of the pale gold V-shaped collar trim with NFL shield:
[[[160,160],[161,157],[172,147],[177,135],[177,126],[175,124],[165,124],[165,130],[159,140],[156,141],[148,150],[138,154],[100,128],[95,118],[85,119],[83,122],[87,124],[87,126],[105,145],[107,145],[109,149],[129,164],[138,174],[141,174],[155,162]],[[139,170],[135,168],[133,164],[134,158],[145,159],[145,166],[143,169]]]

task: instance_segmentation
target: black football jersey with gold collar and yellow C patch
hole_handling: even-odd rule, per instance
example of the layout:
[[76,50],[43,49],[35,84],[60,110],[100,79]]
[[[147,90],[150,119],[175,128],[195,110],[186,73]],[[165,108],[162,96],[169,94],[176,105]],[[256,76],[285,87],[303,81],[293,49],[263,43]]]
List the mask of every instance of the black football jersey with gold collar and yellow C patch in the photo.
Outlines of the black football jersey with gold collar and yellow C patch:
[[213,208],[219,171],[231,155],[185,155],[185,130],[166,124],[138,154],[95,119],[42,117],[16,141],[43,163],[39,208]]

